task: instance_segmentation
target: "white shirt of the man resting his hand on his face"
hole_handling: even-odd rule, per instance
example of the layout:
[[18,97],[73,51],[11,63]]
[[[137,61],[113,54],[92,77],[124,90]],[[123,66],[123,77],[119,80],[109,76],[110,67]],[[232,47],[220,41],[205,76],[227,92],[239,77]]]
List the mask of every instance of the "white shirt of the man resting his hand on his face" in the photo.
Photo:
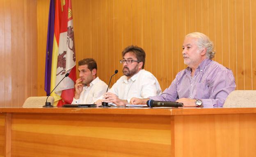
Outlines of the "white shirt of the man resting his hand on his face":
[[96,77],[90,86],[84,86],[79,99],[73,98],[72,104],[93,104],[97,98],[106,93],[107,84]]

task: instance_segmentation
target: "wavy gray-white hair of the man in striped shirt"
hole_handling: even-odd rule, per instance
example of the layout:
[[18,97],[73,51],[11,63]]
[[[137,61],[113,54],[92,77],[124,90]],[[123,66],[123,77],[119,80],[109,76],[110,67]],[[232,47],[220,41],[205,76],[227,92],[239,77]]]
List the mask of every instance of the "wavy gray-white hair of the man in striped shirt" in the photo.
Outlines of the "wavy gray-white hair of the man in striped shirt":
[[194,33],[187,34],[185,38],[187,37],[197,38],[197,47],[200,50],[206,48],[207,58],[212,59],[214,57],[215,55],[214,45],[213,45],[213,42],[210,41],[208,36],[200,32],[194,32]]

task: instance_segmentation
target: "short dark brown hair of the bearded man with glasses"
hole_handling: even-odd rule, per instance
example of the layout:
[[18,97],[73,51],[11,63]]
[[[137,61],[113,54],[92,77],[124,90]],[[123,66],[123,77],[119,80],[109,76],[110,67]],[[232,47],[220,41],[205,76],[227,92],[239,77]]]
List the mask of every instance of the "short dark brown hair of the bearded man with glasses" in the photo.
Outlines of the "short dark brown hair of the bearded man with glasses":
[[144,69],[144,65],[145,65],[145,58],[146,58],[146,53],[145,51],[141,48],[141,47],[138,47],[138,46],[133,46],[133,45],[130,45],[130,46],[127,46],[123,52],[122,52],[122,57],[128,53],[128,52],[132,52],[135,54],[137,60],[139,62],[143,62],[143,65],[142,65],[142,69]]

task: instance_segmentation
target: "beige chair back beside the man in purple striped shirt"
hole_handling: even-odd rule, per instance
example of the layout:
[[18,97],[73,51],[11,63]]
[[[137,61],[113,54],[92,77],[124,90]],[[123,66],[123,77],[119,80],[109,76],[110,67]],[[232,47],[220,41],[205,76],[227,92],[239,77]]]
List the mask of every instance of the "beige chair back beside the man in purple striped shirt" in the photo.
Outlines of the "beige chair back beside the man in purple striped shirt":
[[229,94],[223,107],[256,107],[255,90],[236,90]]

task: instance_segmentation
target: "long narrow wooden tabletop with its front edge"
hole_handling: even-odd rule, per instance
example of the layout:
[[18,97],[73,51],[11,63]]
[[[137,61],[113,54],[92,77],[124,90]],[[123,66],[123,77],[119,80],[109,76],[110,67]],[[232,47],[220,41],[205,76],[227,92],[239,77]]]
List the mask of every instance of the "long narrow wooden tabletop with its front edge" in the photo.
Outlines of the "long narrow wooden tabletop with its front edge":
[[0,107],[0,113],[83,113],[83,114],[118,114],[118,115],[216,115],[216,114],[245,114],[256,113],[256,108],[15,108]]

